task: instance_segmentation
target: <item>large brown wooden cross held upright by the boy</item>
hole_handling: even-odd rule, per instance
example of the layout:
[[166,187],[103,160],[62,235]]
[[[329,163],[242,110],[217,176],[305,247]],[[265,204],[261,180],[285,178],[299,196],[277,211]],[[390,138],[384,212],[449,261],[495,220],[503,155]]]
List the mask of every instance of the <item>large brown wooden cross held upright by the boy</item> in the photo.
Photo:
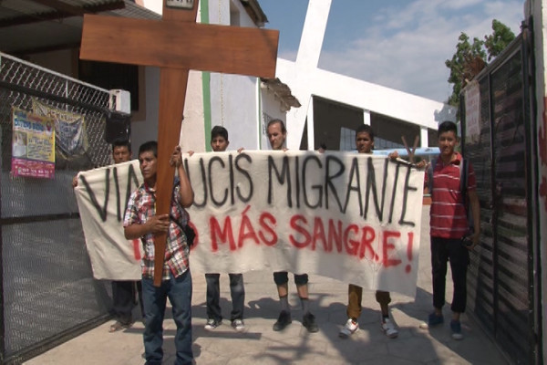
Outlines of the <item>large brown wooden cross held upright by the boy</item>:
[[[161,20],[84,16],[80,58],[160,67],[156,214],[170,210],[175,172],[168,162],[179,144],[189,70],[275,77],[278,31],[196,24],[198,3],[163,0]],[[157,287],[166,239],[154,238]]]

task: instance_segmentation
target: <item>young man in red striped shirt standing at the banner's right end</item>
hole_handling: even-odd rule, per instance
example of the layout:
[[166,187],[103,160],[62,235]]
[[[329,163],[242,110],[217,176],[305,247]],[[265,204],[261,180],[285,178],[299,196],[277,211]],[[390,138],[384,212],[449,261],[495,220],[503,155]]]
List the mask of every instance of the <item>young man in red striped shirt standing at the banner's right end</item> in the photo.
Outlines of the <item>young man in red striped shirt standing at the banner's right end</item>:
[[[461,187],[460,176],[463,169],[462,157],[455,151],[459,143],[458,129],[451,121],[444,121],[439,125],[439,158],[434,165],[430,210],[431,236],[431,266],[433,276],[433,307],[434,311],[428,316],[428,323],[422,323],[420,328],[430,328],[444,322],[442,307],[445,304],[445,288],[447,262],[450,263],[454,296],[452,297],[452,319],[450,329],[453,339],[463,339],[459,316],[465,311],[467,297],[467,267],[470,263],[469,252],[479,244],[480,236],[480,205],[477,196],[475,172],[469,164],[467,172],[467,186]],[[465,189],[465,193],[461,190]],[[469,199],[474,232],[470,235],[466,202]],[[465,245],[464,237],[470,238],[470,245]]]

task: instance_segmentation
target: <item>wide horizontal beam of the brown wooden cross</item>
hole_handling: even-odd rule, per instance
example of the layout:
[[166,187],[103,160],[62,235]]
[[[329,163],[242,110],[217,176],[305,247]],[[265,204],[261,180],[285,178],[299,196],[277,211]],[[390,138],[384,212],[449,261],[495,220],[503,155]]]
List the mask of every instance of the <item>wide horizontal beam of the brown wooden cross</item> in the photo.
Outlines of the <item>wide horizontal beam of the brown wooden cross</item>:
[[[279,31],[84,16],[80,58],[275,77]],[[213,57],[212,57],[213,55]]]

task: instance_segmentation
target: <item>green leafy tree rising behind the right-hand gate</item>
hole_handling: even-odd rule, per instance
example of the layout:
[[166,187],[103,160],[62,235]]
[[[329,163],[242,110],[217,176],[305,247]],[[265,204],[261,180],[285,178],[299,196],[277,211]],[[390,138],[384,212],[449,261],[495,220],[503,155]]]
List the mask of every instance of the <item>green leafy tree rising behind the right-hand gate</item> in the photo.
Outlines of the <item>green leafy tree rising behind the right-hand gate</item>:
[[448,100],[449,105],[459,106],[459,92],[486,66],[484,59],[490,62],[514,38],[515,35],[511,29],[496,19],[492,21],[492,34],[484,36],[484,40],[474,37],[473,42],[470,43],[470,37],[467,34],[462,32],[459,35],[456,53],[451,59],[445,61],[446,67],[450,69],[449,83],[453,84],[452,95]]

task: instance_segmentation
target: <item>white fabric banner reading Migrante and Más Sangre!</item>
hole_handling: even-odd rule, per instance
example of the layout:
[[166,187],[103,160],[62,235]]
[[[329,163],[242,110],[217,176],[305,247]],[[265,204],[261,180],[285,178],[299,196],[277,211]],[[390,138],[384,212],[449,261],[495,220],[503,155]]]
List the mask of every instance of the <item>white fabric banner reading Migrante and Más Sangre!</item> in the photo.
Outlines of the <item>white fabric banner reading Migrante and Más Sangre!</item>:
[[[424,172],[385,156],[346,152],[195,153],[185,155],[184,162],[195,193],[188,209],[197,233],[192,272],[286,270],[415,295]],[[139,170],[138,162],[133,163],[125,175],[125,164],[108,167],[118,169],[120,189],[110,189],[108,201],[125,198],[121,187],[128,183],[123,177],[136,176]],[[100,193],[107,186],[106,172],[84,174],[89,189],[80,179],[78,207],[90,256],[91,249],[97,251],[94,274],[119,278],[119,267],[110,266],[122,265],[113,262],[114,255],[102,254],[107,252],[104,245],[125,244],[125,261],[133,263],[134,245],[103,236],[117,231],[123,238],[117,205],[108,203],[104,209],[107,200]],[[92,203],[89,192],[98,203]],[[106,267],[99,270],[97,265]]]

